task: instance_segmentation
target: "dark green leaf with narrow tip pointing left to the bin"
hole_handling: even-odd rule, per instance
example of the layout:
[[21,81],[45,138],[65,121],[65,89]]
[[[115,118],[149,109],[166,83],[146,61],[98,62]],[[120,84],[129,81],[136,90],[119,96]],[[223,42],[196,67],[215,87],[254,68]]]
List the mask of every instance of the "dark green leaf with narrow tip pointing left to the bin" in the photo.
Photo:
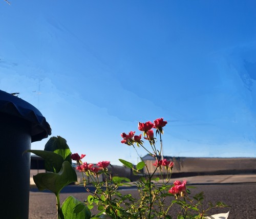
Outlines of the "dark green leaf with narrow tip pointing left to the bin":
[[41,158],[45,159],[45,169],[46,171],[49,172],[59,172],[62,163],[63,163],[63,158],[52,152],[52,151],[46,151],[46,150],[27,150],[27,152],[31,152]]

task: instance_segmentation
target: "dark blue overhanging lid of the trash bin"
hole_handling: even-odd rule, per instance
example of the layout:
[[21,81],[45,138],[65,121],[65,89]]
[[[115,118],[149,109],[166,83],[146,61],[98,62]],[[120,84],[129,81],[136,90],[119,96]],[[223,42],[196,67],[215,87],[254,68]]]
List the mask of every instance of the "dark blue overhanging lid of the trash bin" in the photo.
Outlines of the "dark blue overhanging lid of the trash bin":
[[30,103],[0,90],[0,113],[16,116],[31,123],[31,141],[40,141],[52,134],[46,118]]

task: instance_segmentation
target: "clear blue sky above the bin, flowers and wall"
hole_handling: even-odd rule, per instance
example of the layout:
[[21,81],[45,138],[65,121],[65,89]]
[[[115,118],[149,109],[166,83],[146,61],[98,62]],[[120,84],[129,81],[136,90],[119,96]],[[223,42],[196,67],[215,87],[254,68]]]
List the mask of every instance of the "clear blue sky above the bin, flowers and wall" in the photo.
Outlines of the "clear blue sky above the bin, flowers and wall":
[[120,134],[161,117],[166,156],[256,157],[256,1],[9,2],[0,89],[84,161],[136,163]]

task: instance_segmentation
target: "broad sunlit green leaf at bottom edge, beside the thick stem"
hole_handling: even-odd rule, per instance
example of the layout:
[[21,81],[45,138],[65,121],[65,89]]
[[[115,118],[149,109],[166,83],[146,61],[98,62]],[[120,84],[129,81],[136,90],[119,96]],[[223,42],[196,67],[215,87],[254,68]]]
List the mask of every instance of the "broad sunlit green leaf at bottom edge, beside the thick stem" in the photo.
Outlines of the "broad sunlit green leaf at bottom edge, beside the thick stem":
[[[77,206],[83,205],[83,209],[79,212],[74,212]],[[80,207],[78,207],[80,208]],[[69,196],[61,206],[61,213],[65,219],[89,219],[91,218],[91,211],[86,205],[75,199],[74,196]]]

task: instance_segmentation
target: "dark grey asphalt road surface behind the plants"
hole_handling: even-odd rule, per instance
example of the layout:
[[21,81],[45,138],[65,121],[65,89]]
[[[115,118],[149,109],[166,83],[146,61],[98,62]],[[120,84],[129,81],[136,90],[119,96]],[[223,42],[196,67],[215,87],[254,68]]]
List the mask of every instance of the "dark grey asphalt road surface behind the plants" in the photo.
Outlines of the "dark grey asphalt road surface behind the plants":
[[[221,201],[230,205],[229,219],[246,219],[256,218],[256,183],[240,183],[240,184],[208,184],[194,185],[197,189],[191,189],[192,192],[205,192],[205,201],[212,203]],[[125,189],[122,192],[137,194],[135,189]],[[69,195],[75,196],[78,200],[87,198],[88,193],[82,189],[68,187],[64,193],[60,194],[61,202]],[[30,192],[30,209],[29,218],[57,218],[56,217],[56,200],[55,195],[49,192]],[[175,211],[173,209],[173,215]],[[219,208],[210,211],[210,214],[225,213],[229,208]],[[173,218],[176,218],[175,216]]]

